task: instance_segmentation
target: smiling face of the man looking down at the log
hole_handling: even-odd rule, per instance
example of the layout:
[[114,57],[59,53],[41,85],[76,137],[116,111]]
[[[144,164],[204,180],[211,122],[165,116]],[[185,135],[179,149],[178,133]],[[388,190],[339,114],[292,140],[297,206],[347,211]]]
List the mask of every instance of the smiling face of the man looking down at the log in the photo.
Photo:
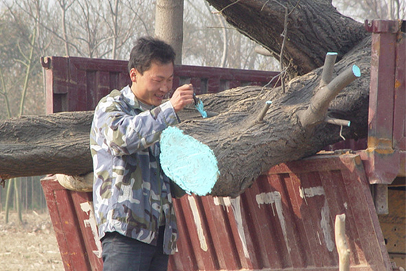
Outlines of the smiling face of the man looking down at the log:
[[150,69],[140,74],[137,69],[131,69],[133,81],[131,90],[140,102],[146,105],[161,105],[166,94],[172,89],[173,64],[151,63]]

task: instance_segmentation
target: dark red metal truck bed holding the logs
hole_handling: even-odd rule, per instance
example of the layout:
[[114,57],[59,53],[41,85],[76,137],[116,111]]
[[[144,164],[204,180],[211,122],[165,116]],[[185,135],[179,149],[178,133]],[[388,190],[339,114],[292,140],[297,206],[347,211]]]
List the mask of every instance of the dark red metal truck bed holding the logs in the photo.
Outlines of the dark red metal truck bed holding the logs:
[[[367,26],[373,35],[368,148],[274,166],[236,199],[177,200],[179,252],[170,270],[338,270],[334,225],[341,213],[350,270],[394,270],[391,261],[405,267],[405,21]],[[129,82],[126,61],[52,57],[43,67],[48,113],[93,110]],[[264,85],[275,74],[179,66],[174,82],[190,80],[203,94]],[[68,191],[52,177],[42,184],[65,270],[102,270],[91,193]]]

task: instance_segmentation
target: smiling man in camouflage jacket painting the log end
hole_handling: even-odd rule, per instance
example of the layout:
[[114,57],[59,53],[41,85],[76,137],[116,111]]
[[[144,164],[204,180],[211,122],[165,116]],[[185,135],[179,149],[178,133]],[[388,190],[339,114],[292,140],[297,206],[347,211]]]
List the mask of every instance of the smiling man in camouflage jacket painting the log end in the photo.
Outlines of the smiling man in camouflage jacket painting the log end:
[[104,270],[166,270],[176,250],[174,189],[160,169],[159,136],[193,102],[193,88],[183,85],[163,102],[174,57],[163,41],[138,39],[128,63],[131,87],[111,91],[95,109],[93,204]]

